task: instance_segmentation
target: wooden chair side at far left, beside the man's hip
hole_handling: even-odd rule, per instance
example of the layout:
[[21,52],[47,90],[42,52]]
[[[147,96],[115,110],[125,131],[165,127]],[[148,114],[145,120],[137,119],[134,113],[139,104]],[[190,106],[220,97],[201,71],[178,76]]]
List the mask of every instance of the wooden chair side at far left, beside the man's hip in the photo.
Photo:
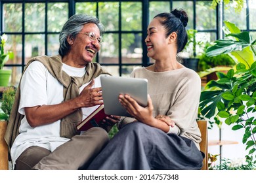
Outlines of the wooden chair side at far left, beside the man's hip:
[[7,122],[0,122],[0,170],[9,169],[8,161],[8,146],[5,142],[4,136],[7,129]]

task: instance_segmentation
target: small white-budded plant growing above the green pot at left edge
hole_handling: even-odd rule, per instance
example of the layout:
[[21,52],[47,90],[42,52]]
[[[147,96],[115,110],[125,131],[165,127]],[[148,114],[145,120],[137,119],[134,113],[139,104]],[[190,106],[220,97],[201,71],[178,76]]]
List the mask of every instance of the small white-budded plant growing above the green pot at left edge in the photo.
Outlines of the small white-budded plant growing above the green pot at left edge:
[[0,43],[0,47],[1,47],[1,53],[0,53],[0,69],[3,69],[3,66],[5,65],[5,63],[7,63],[7,61],[9,59],[12,59],[14,57],[13,52],[7,52],[5,54],[5,43],[7,42],[7,35],[3,34],[1,35],[1,43]]

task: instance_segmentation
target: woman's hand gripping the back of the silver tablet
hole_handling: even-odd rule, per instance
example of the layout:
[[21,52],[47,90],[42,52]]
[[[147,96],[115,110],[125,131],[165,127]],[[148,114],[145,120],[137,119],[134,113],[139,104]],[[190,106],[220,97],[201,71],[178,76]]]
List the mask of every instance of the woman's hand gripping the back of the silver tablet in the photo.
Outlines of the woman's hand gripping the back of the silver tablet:
[[119,95],[119,102],[121,105],[138,121],[154,126],[156,120],[153,117],[153,104],[150,96],[148,95],[148,106],[142,107],[140,106],[135,99],[133,99],[130,95]]

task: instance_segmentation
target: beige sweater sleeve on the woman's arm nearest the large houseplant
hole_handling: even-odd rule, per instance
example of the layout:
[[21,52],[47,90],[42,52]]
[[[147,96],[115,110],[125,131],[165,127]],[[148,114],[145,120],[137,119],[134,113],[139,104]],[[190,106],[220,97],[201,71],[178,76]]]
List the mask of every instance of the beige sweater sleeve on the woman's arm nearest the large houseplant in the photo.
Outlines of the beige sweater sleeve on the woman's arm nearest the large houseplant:
[[[175,102],[167,112],[168,116],[175,121],[175,126],[169,133],[179,133],[194,141],[200,141],[200,131],[196,123],[198,105],[201,93],[201,79],[198,75],[189,75],[179,82],[179,88]],[[198,137],[197,137],[198,136]]]

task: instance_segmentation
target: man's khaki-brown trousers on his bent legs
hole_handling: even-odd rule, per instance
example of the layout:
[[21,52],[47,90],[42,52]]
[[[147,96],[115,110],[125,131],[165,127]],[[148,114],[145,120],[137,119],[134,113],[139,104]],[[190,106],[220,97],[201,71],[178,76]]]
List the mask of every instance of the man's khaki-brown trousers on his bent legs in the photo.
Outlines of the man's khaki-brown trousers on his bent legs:
[[39,146],[27,148],[16,159],[15,169],[86,169],[108,141],[108,133],[104,129],[93,127],[82,135],[75,135],[53,152]]

